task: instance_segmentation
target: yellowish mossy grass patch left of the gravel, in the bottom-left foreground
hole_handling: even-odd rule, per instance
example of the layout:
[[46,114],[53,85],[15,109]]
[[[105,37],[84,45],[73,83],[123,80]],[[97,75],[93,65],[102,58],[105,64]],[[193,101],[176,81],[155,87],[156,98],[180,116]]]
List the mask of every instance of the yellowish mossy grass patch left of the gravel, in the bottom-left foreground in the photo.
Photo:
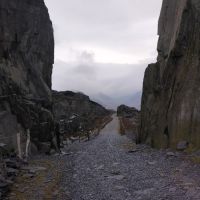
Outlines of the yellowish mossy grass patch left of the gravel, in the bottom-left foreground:
[[[55,191],[58,191],[59,182],[61,179],[61,172],[56,170],[56,163],[51,160],[34,160],[30,162],[30,166],[45,167],[46,170],[38,171],[33,178],[25,178],[23,172],[16,178],[15,185],[11,188],[11,193],[14,196],[10,196],[11,200],[28,200],[35,192],[41,192],[41,199],[52,199],[52,195]],[[51,181],[45,182],[47,177],[51,176]],[[18,187],[15,187],[18,185]],[[21,189],[27,188],[24,192],[20,192]]]

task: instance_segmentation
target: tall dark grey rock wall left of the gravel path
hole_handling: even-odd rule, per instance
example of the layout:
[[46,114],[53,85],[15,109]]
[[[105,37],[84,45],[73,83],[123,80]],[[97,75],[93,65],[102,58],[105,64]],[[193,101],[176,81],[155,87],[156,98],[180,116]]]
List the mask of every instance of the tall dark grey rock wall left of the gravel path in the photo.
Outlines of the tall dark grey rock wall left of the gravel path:
[[43,0],[0,1],[0,141],[52,139],[52,23]]

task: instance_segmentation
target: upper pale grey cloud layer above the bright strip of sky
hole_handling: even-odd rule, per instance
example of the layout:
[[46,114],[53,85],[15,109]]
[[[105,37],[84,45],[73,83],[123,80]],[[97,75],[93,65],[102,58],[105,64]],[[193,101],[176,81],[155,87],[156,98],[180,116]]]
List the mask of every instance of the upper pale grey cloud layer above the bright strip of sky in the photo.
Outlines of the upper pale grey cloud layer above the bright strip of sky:
[[[56,41],[146,51],[156,43],[161,0],[46,0],[55,24]],[[145,40],[147,44],[145,45]],[[152,42],[151,42],[152,41]]]

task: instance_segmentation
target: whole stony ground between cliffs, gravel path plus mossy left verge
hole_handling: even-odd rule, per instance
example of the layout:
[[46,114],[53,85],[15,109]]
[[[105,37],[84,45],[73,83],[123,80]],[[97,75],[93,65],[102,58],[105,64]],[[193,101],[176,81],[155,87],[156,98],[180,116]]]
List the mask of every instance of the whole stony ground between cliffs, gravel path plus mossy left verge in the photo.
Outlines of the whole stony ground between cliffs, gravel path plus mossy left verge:
[[[183,153],[136,146],[119,134],[118,126],[114,116],[96,138],[74,143],[62,156],[37,158],[38,165],[50,163],[40,175],[41,184],[34,185],[33,178],[20,198],[13,191],[10,199],[200,199],[199,164]],[[24,185],[18,183],[17,188]]]

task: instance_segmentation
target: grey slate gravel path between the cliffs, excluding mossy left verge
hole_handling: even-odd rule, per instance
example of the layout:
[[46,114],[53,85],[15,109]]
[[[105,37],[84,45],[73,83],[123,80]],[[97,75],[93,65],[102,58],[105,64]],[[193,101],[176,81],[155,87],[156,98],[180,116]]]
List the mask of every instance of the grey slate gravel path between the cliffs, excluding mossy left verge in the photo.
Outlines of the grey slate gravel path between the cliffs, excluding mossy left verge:
[[[200,199],[200,166],[184,155],[137,146],[114,117],[94,140],[74,146],[73,200]],[[195,180],[196,179],[196,180]]]

